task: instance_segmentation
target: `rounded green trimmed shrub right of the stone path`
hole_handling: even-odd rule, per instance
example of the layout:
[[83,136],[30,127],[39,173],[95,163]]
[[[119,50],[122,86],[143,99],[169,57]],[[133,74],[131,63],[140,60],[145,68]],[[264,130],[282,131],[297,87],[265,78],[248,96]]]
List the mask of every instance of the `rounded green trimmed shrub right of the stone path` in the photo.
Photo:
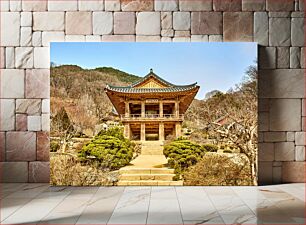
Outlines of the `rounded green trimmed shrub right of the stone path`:
[[174,180],[188,167],[195,165],[205,154],[205,149],[196,143],[185,139],[177,139],[164,146],[164,155],[168,158],[168,165],[175,169]]

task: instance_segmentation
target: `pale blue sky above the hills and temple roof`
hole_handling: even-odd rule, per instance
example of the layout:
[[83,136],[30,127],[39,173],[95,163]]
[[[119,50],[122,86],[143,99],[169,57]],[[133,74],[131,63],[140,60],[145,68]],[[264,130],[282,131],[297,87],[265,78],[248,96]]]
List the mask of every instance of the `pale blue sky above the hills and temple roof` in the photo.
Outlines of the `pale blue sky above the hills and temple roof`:
[[150,68],[174,84],[198,82],[196,96],[226,92],[257,58],[256,43],[52,43],[51,62],[82,68],[113,67],[145,76]]

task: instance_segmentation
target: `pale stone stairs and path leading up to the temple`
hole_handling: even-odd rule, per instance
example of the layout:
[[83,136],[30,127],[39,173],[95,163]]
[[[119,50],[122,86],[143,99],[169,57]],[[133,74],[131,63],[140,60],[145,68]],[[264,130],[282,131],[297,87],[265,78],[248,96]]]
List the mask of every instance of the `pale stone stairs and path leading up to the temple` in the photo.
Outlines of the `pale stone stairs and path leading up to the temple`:
[[130,166],[119,170],[118,186],[169,186],[183,185],[173,181],[174,169],[164,167],[167,159],[163,154],[163,143],[142,142],[141,154],[131,161]]

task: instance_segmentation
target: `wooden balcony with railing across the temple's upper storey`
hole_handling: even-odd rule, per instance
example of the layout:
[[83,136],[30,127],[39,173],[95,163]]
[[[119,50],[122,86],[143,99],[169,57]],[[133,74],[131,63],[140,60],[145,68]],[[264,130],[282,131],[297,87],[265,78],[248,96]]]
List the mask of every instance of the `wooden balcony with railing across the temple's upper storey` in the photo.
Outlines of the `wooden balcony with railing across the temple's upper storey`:
[[130,114],[129,116],[121,115],[122,121],[183,121],[184,115],[175,114],[163,114],[160,116],[159,114],[145,114],[145,116],[141,116],[141,114]]

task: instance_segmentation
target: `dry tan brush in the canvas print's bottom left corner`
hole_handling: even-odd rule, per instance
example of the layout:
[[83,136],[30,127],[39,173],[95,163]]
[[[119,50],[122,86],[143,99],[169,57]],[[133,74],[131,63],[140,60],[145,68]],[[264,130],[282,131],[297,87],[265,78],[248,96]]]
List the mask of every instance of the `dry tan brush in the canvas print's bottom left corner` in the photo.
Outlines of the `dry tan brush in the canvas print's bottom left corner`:
[[96,165],[82,165],[71,154],[50,153],[50,183],[58,186],[112,186],[118,180],[116,171],[105,171]]

